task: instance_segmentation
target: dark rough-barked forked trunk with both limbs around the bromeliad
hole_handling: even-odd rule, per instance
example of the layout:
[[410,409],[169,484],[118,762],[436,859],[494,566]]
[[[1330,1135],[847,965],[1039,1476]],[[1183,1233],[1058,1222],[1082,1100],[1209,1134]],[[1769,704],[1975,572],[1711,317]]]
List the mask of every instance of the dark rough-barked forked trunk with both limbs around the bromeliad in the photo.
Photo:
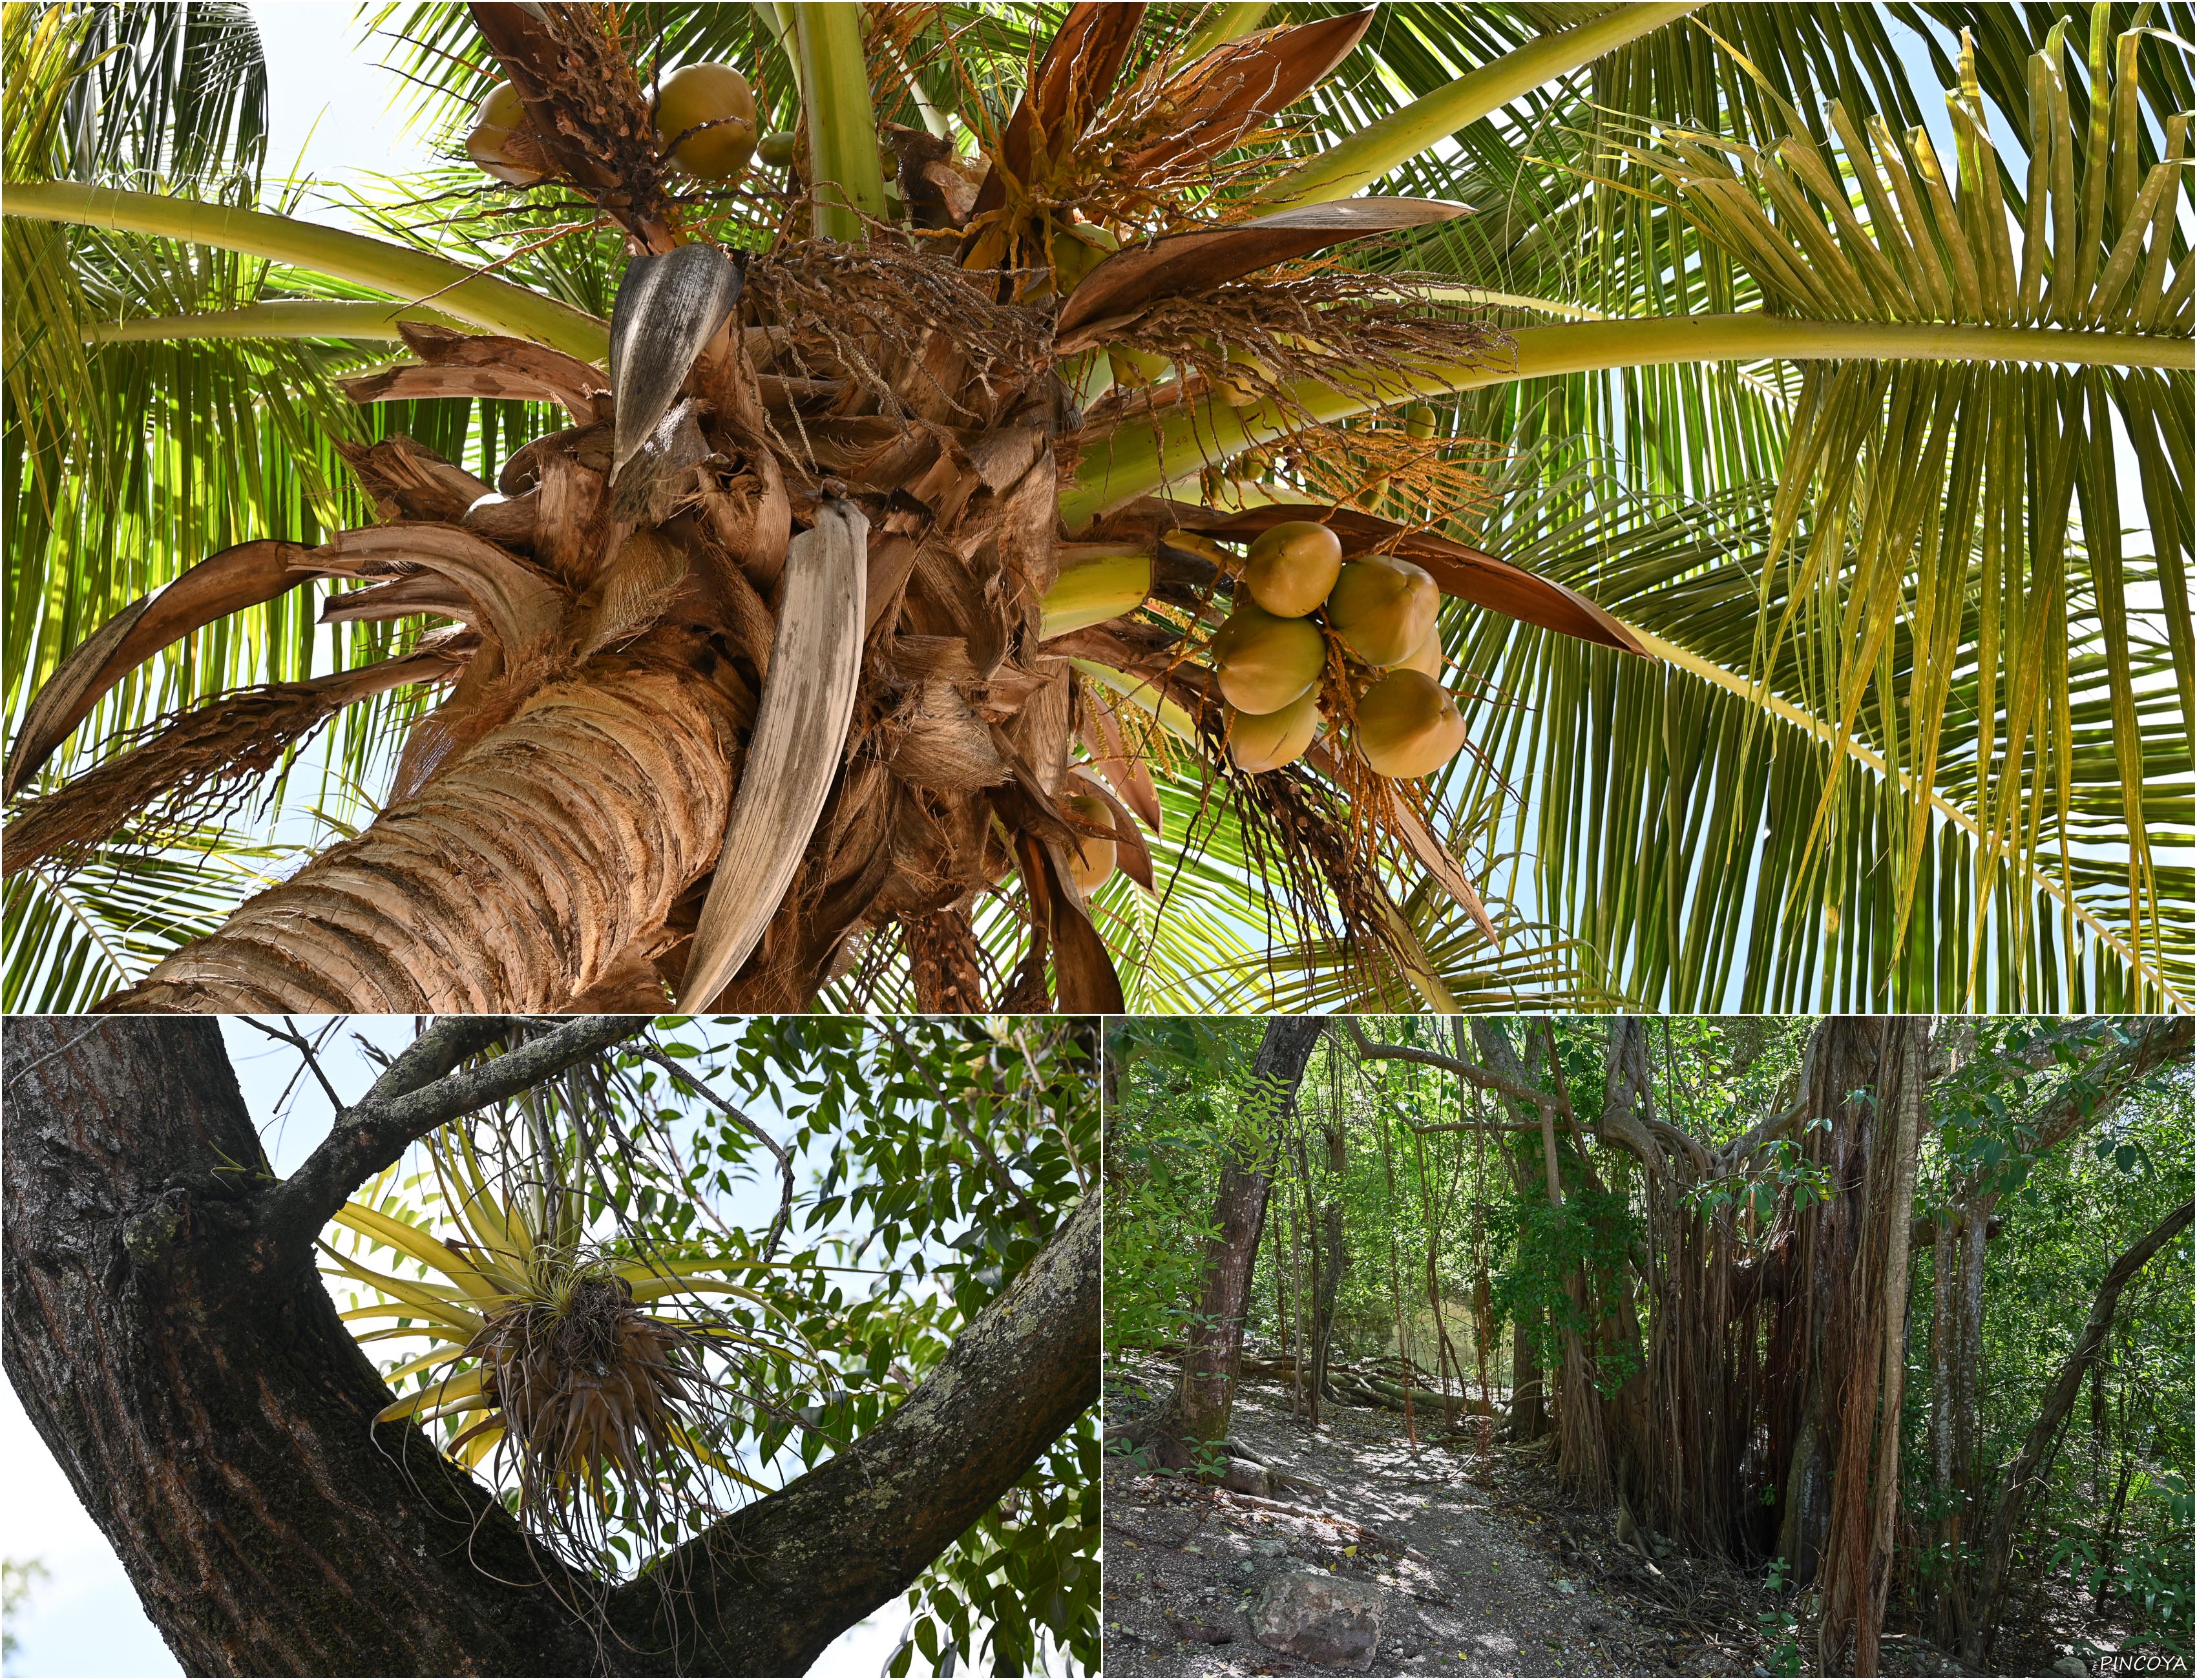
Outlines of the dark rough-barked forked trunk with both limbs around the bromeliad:
[[448,1069],[499,1030],[431,1028],[411,1107],[347,1111],[277,1184],[215,1021],[9,1028],[7,1375],[191,1673],[800,1673],[1096,1399],[1088,1197],[848,1452],[644,1579],[569,1570],[422,1430],[373,1427],[389,1388],[314,1272],[332,1203],[439,1124],[426,1098],[481,1089]]

